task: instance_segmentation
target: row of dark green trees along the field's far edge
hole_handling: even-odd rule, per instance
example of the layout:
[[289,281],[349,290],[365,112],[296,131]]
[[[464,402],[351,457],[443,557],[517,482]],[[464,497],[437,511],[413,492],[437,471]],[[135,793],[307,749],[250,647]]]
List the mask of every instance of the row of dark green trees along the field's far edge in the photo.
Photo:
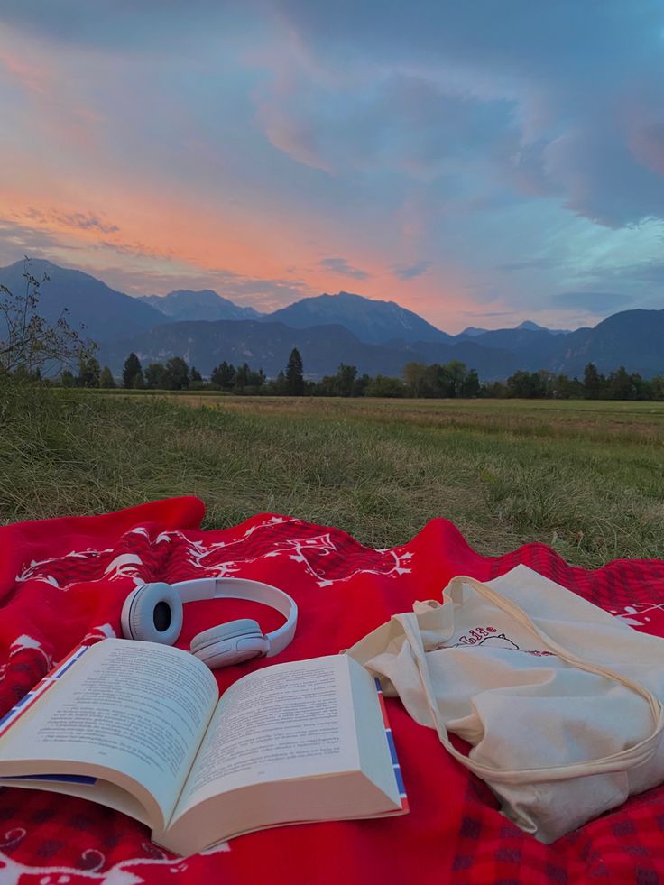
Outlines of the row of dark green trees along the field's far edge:
[[115,387],[162,391],[218,390],[241,395],[340,396],[340,397],[424,397],[432,399],[499,398],[558,400],[664,400],[664,377],[642,378],[628,373],[624,366],[615,372],[599,373],[595,364],[586,365],[583,377],[544,369],[519,371],[504,382],[480,383],[475,369],[452,360],[445,364],[410,362],[400,378],[359,374],[355,365],[339,364],[337,372],[319,381],[304,377],[304,366],[297,348],[276,378],[269,379],[260,368],[249,364],[235,366],[224,360],[204,379],[195,366],[181,356],[171,356],[165,364],[150,363],[143,368],[130,354],[124,362],[122,378],[115,381],[107,366],[101,368],[94,355],[81,356],[78,375],[66,370],[60,375],[66,387]]

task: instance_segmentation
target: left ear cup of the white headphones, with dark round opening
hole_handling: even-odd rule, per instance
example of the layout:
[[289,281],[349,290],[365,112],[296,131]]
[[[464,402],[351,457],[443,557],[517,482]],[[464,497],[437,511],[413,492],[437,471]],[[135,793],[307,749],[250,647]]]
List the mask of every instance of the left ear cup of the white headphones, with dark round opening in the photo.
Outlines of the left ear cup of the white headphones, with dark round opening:
[[125,639],[173,645],[182,629],[182,600],[170,584],[143,584],[124,600]]

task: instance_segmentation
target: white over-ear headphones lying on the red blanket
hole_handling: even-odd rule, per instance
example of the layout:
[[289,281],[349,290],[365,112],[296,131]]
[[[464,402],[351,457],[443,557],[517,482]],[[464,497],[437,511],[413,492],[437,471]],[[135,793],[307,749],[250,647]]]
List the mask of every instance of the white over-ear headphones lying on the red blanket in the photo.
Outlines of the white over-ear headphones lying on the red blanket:
[[236,577],[205,577],[179,584],[143,584],[124,600],[120,621],[125,639],[173,645],[182,629],[182,604],[199,599],[246,599],[276,609],[286,622],[265,633],[248,618],[219,624],[191,640],[191,652],[210,669],[241,664],[251,658],[272,658],[291,643],[298,606],[291,596],[260,581]]

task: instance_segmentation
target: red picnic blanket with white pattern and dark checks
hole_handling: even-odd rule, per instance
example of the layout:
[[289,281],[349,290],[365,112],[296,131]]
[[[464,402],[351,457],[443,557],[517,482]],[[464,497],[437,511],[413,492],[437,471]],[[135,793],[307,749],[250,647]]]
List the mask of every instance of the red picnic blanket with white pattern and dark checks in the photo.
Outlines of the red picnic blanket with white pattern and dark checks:
[[[134,586],[242,576],[290,593],[298,632],[280,660],[334,654],[417,599],[440,598],[459,574],[488,580],[524,563],[636,630],[664,636],[664,562],[568,566],[541,544],[479,556],[452,523],[433,520],[410,543],[374,550],[345,532],[263,513],[227,530],[198,528],[204,505],[183,497],[104,516],[0,528],[0,716],[79,641],[120,635]],[[279,615],[231,601],[191,603],[179,645],[233,617],[264,630]],[[264,659],[217,671],[224,689]],[[508,822],[484,783],[454,761],[436,733],[388,700],[410,814],[248,834],[186,860],[152,845],[143,826],[73,797],[0,790],[0,883],[134,885],[220,881],[638,882],[664,880],[664,787],[632,797],[552,845]]]

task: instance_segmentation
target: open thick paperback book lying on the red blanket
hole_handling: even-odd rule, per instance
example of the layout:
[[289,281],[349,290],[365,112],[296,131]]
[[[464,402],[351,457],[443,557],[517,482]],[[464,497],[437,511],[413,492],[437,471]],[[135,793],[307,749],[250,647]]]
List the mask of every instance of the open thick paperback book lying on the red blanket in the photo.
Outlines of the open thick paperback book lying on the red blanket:
[[152,642],[80,646],[0,720],[0,785],[92,799],[192,854],[280,824],[407,809],[383,697],[346,655],[217,681]]

